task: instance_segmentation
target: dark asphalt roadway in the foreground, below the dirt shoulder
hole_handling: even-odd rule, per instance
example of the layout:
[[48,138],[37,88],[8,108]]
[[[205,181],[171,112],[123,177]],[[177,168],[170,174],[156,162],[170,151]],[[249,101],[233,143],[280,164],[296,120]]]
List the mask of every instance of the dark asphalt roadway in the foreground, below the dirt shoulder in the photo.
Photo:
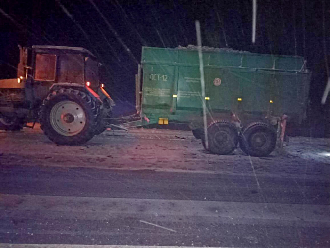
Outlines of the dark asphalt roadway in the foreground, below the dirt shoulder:
[[329,247],[329,183],[5,166],[0,243]]

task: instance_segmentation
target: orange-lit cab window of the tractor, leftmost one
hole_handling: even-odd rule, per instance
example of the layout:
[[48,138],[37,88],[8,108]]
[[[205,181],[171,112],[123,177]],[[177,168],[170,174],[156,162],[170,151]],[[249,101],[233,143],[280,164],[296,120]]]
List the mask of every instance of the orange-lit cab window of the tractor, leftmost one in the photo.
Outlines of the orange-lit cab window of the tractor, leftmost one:
[[54,81],[55,72],[56,72],[56,55],[37,53],[34,80]]

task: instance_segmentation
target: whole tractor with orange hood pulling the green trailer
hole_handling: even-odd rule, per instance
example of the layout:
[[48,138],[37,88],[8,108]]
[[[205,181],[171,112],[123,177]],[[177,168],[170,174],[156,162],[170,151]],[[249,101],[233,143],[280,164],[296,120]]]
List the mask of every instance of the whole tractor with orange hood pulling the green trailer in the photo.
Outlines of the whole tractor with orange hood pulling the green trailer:
[[39,122],[49,140],[79,145],[107,128],[115,102],[100,83],[101,64],[91,52],[18,47],[17,78],[0,80],[0,129],[17,131]]

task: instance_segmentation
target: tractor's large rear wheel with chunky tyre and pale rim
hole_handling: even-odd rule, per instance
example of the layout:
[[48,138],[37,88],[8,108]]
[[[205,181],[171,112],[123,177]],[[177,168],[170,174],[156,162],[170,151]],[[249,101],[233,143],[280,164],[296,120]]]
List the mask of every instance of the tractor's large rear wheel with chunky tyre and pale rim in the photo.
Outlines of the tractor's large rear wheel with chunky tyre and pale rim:
[[88,94],[58,89],[44,99],[40,124],[46,136],[59,145],[80,145],[94,136],[99,107]]

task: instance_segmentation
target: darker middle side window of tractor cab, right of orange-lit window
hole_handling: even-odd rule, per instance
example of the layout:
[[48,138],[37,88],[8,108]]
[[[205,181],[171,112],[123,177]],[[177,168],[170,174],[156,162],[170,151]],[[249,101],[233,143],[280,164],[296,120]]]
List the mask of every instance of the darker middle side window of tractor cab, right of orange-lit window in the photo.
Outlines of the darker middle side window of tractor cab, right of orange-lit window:
[[59,55],[58,63],[57,81],[59,83],[84,84],[82,55],[61,54]]

